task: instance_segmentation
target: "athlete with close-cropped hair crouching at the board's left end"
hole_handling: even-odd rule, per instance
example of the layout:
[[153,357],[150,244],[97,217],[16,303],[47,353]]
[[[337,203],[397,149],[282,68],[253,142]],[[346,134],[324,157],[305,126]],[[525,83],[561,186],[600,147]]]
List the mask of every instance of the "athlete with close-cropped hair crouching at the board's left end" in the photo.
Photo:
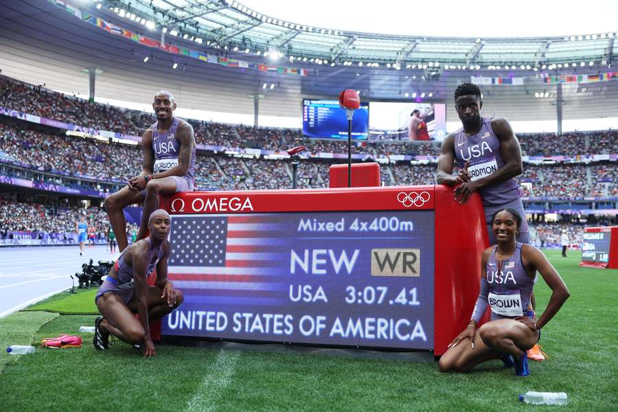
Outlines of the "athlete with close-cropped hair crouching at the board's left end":
[[[103,317],[95,321],[93,343],[98,350],[109,347],[109,335],[132,345],[144,345],[144,357],[155,356],[148,323],[157,321],[183,303],[183,294],[168,282],[170,215],[163,209],[148,219],[150,236],[120,254],[95,297]],[[147,278],[157,268],[157,285]],[[139,320],[135,318],[139,314]]]

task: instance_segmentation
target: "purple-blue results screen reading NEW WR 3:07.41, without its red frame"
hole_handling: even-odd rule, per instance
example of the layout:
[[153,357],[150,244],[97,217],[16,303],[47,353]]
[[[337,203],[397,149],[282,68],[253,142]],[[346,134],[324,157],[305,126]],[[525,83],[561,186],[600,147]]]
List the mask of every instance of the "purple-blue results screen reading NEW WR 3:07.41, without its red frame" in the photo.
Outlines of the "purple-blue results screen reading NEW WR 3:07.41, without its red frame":
[[434,212],[172,216],[162,332],[433,349]]

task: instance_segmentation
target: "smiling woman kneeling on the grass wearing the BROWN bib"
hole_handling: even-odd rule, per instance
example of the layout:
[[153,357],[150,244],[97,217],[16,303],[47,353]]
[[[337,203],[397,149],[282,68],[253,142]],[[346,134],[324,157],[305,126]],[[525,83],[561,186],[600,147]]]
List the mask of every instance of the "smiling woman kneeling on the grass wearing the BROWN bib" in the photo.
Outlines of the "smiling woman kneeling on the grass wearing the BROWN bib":
[[[492,230],[498,244],[483,251],[481,293],[472,319],[440,358],[440,370],[467,372],[475,365],[501,358],[505,366],[515,366],[516,376],[529,375],[526,350],[540,339],[540,329],[558,312],[569,290],[556,269],[538,249],[516,242],[521,217],[513,209],[496,211]],[[527,308],[538,271],[551,288],[545,312],[534,319]],[[492,308],[491,321],[479,328],[485,309]],[[468,340],[468,341],[466,341]],[[461,343],[461,345],[460,345]]]

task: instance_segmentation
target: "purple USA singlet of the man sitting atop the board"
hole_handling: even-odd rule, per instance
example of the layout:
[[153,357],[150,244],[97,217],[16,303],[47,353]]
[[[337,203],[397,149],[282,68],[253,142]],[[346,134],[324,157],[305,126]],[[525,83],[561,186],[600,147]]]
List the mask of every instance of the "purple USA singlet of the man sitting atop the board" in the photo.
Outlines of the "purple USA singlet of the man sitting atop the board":
[[[151,126],[152,128],[152,150],[155,151],[155,168],[154,172],[165,172],[178,165],[178,155],[180,152],[180,142],[176,139],[176,129],[182,122],[179,117],[174,117],[172,127],[170,127],[165,133],[159,133],[157,126],[159,122],[156,122]],[[195,146],[191,153],[191,159],[189,161],[189,168],[185,176],[191,182],[195,181]]]

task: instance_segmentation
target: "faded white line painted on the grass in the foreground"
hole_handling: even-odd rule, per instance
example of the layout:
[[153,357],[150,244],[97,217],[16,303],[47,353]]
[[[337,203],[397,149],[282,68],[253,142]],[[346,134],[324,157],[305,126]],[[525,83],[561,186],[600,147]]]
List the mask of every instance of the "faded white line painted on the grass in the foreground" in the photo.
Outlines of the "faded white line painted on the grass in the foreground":
[[238,358],[240,358],[238,351],[222,350],[219,352],[214,365],[206,371],[204,379],[195,391],[195,395],[188,402],[185,408],[186,412],[207,412],[218,407],[218,398],[230,384]]

